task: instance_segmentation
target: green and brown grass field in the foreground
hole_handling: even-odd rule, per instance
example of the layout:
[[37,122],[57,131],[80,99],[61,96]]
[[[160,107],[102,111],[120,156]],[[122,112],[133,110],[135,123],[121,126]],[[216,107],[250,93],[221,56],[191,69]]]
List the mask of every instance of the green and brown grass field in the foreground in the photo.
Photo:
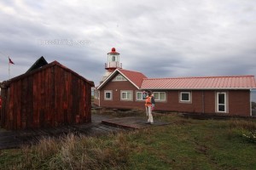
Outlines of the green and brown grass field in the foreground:
[[193,120],[157,115],[171,122],[101,137],[42,139],[19,150],[0,150],[1,169],[256,169],[255,140],[245,137],[256,122]]

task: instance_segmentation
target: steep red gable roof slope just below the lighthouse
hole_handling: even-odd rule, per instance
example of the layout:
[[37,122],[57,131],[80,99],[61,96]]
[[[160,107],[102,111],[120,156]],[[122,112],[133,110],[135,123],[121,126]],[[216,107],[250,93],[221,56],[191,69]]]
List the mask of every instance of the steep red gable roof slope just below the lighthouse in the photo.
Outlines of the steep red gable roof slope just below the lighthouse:
[[143,75],[143,73],[137,71],[127,71],[123,69],[118,69],[118,71],[122,73],[126,78],[128,78],[131,82],[133,82],[137,86],[137,88],[140,88],[143,83],[143,79],[147,78],[145,75]]

